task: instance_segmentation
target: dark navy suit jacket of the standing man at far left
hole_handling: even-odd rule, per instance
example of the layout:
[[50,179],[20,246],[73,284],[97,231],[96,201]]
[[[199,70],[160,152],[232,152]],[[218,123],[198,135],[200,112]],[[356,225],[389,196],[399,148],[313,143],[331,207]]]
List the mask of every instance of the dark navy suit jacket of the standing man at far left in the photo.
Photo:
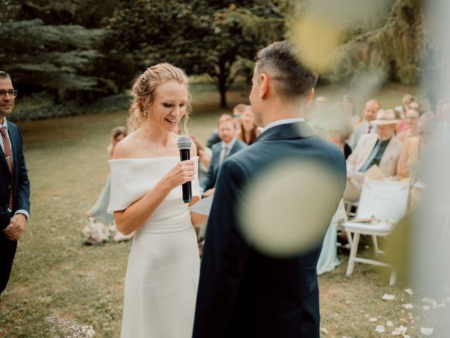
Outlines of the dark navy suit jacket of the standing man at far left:
[[[14,215],[15,211],[23,209],[30,213],[30,181],[28,180],[25,157],[23,156],[22,134],[19,128],[9,121],[8,134],[13,151],[14,177],[11,184],[11,175],[4,151],[0,147],[0,229],[9,224],[8,217]],[[13,211],[6,211],[8,207],[9,194],[13,188]],[[7,221],[7,222],[6,222]]]

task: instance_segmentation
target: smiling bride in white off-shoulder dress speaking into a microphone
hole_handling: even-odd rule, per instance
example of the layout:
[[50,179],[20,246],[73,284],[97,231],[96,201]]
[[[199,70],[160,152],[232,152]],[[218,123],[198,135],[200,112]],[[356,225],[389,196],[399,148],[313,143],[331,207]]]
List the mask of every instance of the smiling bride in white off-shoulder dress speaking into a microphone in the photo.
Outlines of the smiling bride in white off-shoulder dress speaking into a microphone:
[[199,275],[198,245],[181,184],[200,197],[198,157],[180,162],[174,133],[190,108],[188,77],[160,63],[131,90],[131,134],[114,150],[109,212],[117,229],[136,231],[124,286],[122,338],[191,337]]

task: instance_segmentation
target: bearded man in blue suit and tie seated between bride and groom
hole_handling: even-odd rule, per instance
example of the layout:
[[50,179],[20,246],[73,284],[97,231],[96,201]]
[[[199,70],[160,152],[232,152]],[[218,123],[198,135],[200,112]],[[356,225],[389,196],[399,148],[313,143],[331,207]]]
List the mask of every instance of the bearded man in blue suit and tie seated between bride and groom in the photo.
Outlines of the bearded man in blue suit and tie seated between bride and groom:
[[206,177],[200,183],[201,189],[203,189],[203,197],[210,196],[214,193],[214,186],[216,184],[217,173],[225,158],[235,154],[244,149],[247,144],[240,141],[237,137],[236,125],[234,124],[231,115],[224,114],[219,118],[217,123],[219,131],[219,138],[221,142],[218,142],[212,146],[212,158],[210,168],[208,168]]

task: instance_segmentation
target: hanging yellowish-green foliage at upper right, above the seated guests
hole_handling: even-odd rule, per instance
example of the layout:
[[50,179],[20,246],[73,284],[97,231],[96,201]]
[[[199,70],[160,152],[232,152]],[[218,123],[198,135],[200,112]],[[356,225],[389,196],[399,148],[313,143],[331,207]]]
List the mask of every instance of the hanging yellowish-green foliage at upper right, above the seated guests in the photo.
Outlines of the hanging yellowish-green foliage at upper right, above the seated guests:
[[367,70],[383,70],[388,80],[416,84],[424,50],[422,8],[418,0],[396,0],[383,21],[349,36],[340,47],[333,82],[352,82]]

